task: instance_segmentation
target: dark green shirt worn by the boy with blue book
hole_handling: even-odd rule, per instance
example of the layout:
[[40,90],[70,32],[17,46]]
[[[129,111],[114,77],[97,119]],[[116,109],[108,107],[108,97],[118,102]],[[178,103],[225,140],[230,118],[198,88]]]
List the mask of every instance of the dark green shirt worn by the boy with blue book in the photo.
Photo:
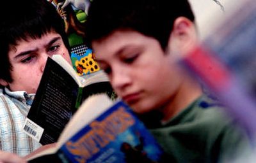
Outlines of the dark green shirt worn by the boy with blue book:
[[251,147],[223,107],[206,96],[150,131],[173,162],[234,162],[247,158]]

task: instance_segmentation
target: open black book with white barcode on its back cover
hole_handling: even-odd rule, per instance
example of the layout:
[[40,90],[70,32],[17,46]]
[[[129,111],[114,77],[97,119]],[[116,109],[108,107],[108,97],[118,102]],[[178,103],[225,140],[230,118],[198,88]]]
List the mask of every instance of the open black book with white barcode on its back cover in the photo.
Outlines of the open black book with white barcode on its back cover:
[[102,92],[116,97],[103,71],[81,78],[61,55],[49,57],[24,132],[42,145],[55,143],[82,101]]

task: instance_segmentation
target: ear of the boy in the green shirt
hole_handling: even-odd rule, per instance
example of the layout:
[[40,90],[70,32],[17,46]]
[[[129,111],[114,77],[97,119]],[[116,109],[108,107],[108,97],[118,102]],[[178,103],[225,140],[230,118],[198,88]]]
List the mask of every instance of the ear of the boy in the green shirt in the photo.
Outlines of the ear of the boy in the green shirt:
[[186,17],[176,18],[168,41],[168,51],[186,54],[195,47],[197,41],[195,24]]

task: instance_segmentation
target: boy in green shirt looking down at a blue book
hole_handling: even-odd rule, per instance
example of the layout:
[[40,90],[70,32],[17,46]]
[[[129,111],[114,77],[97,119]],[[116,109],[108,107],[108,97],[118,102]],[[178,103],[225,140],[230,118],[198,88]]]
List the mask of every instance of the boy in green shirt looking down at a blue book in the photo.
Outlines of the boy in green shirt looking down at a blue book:
[[177,62],[196,44],[194,20],[187,0],[93,0],[86,41],[173,162],[240,159],[243,129]]

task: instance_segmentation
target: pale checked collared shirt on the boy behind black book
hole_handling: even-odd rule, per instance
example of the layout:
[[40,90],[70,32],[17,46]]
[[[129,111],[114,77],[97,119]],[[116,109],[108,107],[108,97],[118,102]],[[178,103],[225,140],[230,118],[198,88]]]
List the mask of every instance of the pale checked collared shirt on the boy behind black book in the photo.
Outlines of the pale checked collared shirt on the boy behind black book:
[[35,94],[0,89],[0,150],[24,156],[40,147],[22,127]]

